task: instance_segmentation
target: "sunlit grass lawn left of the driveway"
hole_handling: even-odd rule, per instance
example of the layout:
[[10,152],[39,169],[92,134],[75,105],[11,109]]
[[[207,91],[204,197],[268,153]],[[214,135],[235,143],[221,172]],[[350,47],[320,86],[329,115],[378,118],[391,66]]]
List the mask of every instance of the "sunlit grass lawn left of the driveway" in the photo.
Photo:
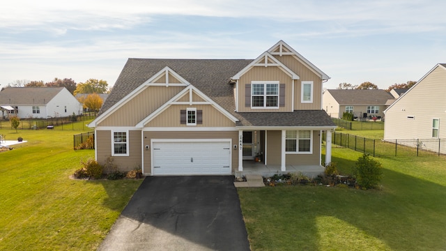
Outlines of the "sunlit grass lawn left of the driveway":
[[0,250],[95,250],[139,187],[142,180],[68,178],[94,156],[73,150],[78,123],[80,130],[0,130],[28,141],[0,153]]

